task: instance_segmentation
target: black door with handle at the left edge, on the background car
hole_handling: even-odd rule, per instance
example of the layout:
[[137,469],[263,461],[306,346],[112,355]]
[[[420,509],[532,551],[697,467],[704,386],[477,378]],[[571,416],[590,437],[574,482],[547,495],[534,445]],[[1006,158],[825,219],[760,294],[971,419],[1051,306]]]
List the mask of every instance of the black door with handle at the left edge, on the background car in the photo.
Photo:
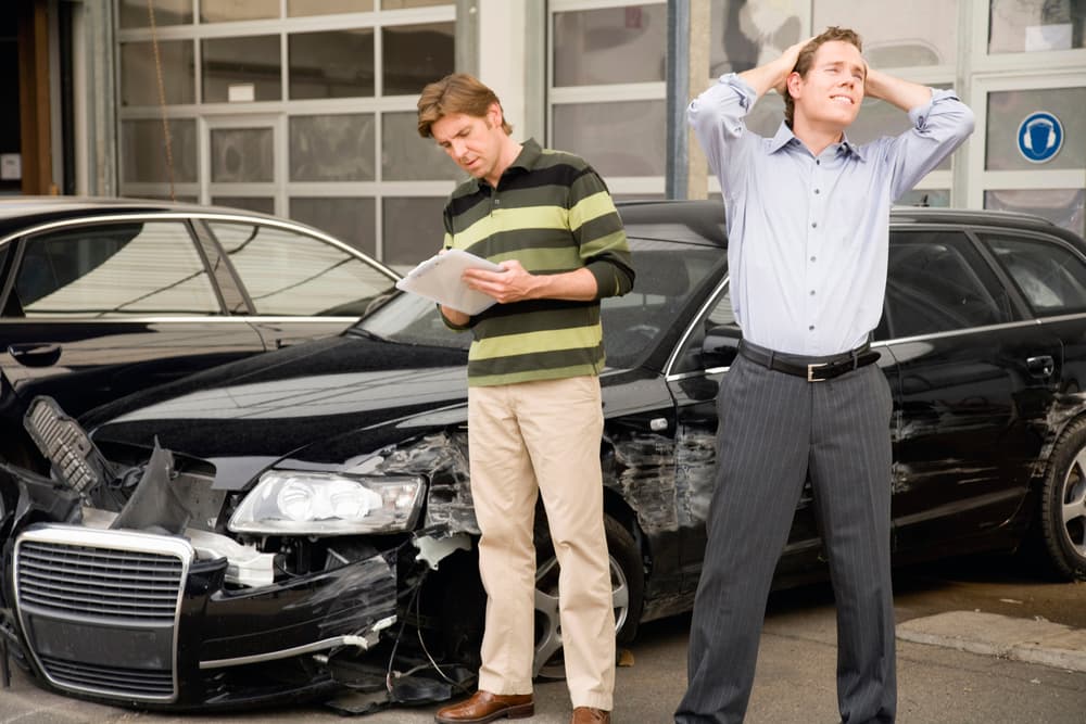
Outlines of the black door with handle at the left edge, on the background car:
[[2,293],[0,412],[14,433],[5,433],[9,442],[36,395],[76,416],[265,348],[244,317],[225,314],[205,257],[178,217],[29,233],[17,242]]

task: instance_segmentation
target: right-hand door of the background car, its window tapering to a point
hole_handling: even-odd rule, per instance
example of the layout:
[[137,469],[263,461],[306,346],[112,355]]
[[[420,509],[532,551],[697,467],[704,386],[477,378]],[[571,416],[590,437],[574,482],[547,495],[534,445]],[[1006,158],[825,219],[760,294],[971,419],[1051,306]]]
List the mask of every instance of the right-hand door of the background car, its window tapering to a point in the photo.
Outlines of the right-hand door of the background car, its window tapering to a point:
[[207,219],[240,279],[248,314],[269,348],[350,327],[393,293],[395,277],[341,242],[285,224]]

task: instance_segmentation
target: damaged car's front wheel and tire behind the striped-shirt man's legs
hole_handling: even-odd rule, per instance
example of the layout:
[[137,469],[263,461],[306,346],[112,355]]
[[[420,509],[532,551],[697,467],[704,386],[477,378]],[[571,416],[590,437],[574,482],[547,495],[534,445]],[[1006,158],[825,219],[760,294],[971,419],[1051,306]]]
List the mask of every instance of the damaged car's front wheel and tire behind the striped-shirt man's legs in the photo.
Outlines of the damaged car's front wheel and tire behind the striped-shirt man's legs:
[[[535,517],[535,658],[532,675],[565,678],[561,657],[561,627],[558,621],[558,561],[546,518]],[[604,516],[607,552],[615,601],[615,630],[619,643],[628,643],[637,632],[644,605],[645,572],[633,536],[610,516]]]

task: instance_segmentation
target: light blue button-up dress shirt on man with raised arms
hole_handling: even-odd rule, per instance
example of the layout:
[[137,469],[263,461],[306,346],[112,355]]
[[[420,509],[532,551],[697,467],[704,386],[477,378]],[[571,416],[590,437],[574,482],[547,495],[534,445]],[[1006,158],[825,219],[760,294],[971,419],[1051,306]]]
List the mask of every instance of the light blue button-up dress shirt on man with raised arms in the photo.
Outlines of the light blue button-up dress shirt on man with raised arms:
[[771,139],[747,130],[757,98],[729,74],[686,111],[723,190],[743,336],[798,355],[853,350],[882,316],[891,205],[965,140],[973,112],[932,89],[900,136],[815,156],[783,122]]

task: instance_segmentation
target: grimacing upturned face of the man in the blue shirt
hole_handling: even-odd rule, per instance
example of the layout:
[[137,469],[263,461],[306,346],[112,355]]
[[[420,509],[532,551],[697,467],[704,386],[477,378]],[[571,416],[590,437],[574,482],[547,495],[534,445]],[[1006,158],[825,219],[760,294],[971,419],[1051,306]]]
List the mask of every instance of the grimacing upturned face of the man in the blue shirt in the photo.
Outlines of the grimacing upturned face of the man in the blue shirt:
[[853,43],[822,43],[807,76],[793,74],[788,79],[796,117],[803,117],[808,125],[844,130],[860,112],[867,73],[867,63]]

